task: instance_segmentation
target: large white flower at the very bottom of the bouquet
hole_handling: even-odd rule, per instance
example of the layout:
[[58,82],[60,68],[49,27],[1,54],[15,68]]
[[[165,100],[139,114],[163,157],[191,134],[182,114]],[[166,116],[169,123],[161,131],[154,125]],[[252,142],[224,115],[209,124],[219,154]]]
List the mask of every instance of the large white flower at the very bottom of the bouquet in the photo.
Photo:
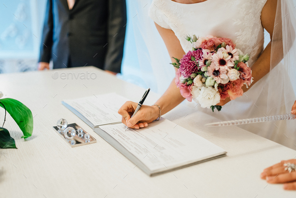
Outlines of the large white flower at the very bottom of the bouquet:
[[220,102],[220,93],[217,88],[202,86],[197,99],[202,108],[210,108]]

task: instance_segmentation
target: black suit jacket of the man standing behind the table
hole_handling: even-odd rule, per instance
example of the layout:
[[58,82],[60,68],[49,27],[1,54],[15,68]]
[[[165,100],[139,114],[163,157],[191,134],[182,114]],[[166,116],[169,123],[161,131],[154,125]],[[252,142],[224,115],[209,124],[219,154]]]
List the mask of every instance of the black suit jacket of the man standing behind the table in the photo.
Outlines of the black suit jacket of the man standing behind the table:
[[[54,68],[93,65],[120,72],[126,27],[125,0],[48,0],[39,62]],[[70,64],[68,63],[70,60]]]

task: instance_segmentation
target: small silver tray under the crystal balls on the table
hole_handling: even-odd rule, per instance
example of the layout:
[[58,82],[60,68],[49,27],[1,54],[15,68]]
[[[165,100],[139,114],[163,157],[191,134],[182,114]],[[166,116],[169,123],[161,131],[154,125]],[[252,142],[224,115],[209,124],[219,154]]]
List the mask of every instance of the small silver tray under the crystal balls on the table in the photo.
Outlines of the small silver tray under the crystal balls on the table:
[[78,132],[77,129],[81,128],[79,127],[76,123],[72,123],[72,124],[68,124],[67,127],[73,127],[75,129],[76,135],[73,137],[73,139],[67,139],[65,138],[62,134],[60,134],[58,132],[59,128],[57,126],[54,126],[53,128],[55,129],[55,131],[66,141],[68,142],[68,144],[71,147],[77,147],[77,146],[82,146],[82,145],[86,145],[86,144],[92,144],[92,143],[96,143],[97,140],[94,139],[91,135],[89,135],[89,139],[84,139],[85,134],[87,133],[86,131],[84,131],[83,129],[83,137],[80,138],[78,137]]

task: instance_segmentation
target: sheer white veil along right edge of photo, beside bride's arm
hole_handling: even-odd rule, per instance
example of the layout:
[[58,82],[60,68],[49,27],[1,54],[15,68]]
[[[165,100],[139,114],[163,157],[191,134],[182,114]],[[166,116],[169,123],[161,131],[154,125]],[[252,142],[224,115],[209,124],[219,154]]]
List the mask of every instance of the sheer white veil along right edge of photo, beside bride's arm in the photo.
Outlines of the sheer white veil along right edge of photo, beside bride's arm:
[[[296,97],[296,0],[278,0],[271,44],[267,114],[289,113]],[[280,61],[280,62],[279,62]],[[296,149],[296,122],[279,121],[276,136],[279,143]]]

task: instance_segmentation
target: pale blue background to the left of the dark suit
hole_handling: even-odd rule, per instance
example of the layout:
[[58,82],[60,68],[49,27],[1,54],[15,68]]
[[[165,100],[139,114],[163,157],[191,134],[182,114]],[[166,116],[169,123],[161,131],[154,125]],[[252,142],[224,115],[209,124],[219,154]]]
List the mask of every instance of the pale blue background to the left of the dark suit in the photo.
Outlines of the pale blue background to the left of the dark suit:
[[37,69],[46,0],[3,0],[0,73]]

